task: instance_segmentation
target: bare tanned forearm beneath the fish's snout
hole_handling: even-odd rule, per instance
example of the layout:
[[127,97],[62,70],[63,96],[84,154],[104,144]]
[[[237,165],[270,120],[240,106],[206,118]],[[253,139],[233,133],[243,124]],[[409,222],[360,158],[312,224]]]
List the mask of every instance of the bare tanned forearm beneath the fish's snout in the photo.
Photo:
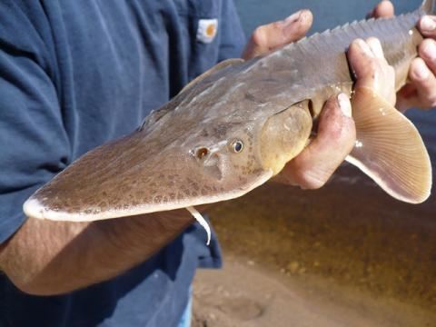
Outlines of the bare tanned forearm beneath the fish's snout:
[[186,211],[94,223],[30,218],[0,252],[0,268],[25,292],[74,291],[143,262],[190,223]]

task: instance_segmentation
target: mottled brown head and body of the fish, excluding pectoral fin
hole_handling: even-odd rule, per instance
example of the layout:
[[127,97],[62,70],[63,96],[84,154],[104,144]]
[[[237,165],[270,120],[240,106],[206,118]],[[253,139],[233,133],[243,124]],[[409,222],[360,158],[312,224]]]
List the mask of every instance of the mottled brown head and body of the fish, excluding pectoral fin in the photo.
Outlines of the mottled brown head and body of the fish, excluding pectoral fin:
[[[397,73],[397,87],[417,55],[414,28],[423,9],[393,19],[352,23],[247,62],[236,60],[188,85],[133,134],[85,154],[38,190],[25,213],[53,220],[93,221],[213,203],[265,183],[284,164],[276,138],[306,144],[322,104],[352,93],[346,50],[356,38],[378,37]],[[312,101],[312,117],[309,104]],[[270,118],[292,108],[293,123],[266,135]],[[270,121],[271,122],[271,121]],[[267,141],[265,141],[267,140]],[[243,144],[241,153],[235,144]]]

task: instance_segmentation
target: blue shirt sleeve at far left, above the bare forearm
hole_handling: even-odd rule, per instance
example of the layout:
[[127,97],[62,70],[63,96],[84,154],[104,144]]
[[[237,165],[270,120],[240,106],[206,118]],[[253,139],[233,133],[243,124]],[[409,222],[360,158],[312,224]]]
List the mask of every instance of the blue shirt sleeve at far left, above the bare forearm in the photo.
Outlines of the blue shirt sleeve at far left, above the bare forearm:
[[44,8],[24,6],[0,4],[0,243],[25,222],[23,203],[64,169],[70,153]]

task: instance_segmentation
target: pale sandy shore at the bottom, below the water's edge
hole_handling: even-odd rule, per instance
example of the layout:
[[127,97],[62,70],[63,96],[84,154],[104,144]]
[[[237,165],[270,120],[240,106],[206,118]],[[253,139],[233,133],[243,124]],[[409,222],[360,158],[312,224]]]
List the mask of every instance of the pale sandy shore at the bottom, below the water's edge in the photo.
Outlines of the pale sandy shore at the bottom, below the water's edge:
[[436,314],[419,307],[315,277],[311,285],[299,283],[241,257],[197,274],[193,308],[193,327],[436,325]]

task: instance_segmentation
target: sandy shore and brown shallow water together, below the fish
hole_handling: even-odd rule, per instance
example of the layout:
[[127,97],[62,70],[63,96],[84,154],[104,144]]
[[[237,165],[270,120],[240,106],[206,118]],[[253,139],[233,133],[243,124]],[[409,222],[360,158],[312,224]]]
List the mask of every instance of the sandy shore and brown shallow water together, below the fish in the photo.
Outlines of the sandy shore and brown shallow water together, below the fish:
[[226,265],[197,274],[194,326],[436,326],[435,210],[434,194],[399,203],[351,166],[318,191],[222,203]]

